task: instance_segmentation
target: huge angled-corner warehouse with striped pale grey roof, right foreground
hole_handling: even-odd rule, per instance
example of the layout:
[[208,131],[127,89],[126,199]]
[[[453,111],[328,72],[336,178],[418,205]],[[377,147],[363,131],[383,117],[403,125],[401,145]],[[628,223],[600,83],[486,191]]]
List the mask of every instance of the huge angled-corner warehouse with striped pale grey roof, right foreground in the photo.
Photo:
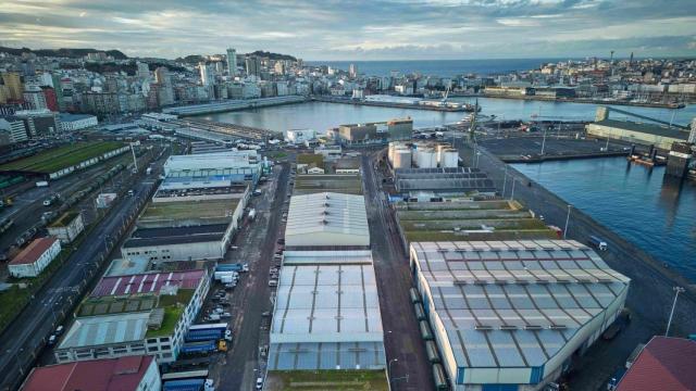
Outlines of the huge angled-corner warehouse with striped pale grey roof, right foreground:
[[455,390],[538,390],[616,319],[629,278],[571,240],[412,242]]

